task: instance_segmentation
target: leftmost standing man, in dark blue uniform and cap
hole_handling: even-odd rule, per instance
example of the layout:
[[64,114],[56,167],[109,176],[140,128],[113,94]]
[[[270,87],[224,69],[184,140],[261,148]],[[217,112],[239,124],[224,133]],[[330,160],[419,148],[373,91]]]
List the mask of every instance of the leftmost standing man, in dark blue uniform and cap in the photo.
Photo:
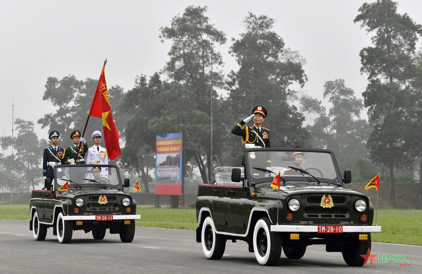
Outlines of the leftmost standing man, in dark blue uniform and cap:
[[43,179],[54,179],[54,165],[64,164],[63,157],[65,156],[65,149],[58,146],[60,133],[53,130],[49,134],[51,145],[44,149],[43,154]]

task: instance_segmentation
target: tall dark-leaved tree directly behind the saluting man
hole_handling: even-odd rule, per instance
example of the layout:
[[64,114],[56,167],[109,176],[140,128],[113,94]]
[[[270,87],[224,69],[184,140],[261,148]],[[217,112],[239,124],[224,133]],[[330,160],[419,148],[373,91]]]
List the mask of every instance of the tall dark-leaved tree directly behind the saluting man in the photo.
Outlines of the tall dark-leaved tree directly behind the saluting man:
[[[254,105],[262,104],[268,110],[264,126],[271,130],[271,146],[308,146],[310,135],[302,125],[305,117],[288,103],[297,99],[291,85],[296,82],[303,87],[307,81],[302,67],[305,60],[298,52],[286,48],[283,39],[271,30],[274,19],[249,12],[243,23],[245,32],[238,39],[232,38],[230,47],[239,69],[230,72],[227,82],[226,107],[232,114],[226,117],[227,127],[232,128],[250,115]],[[236,141],[230,147],[238,153],[241,149],[238,139],[227,138]]]

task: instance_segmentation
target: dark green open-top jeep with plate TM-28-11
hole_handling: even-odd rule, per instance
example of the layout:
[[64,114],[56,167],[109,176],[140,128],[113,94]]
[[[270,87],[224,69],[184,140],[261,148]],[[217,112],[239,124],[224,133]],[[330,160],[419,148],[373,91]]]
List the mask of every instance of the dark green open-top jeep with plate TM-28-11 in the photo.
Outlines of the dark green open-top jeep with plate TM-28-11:
[[[98,178],[99,177],[99,178]],[[60,187],[68,182],[68,192]],[[45,179],[43,190],[32,190],[30,230],[36,241],[53,228],[60,243],[69,243],[72,233],[83,230],[94,239],[104,239],[106,230],[119,234],[122,242],[135,235],[136,203],[124,193],[129,179],[120,179],[116,165],[55,165],[54,180]]]

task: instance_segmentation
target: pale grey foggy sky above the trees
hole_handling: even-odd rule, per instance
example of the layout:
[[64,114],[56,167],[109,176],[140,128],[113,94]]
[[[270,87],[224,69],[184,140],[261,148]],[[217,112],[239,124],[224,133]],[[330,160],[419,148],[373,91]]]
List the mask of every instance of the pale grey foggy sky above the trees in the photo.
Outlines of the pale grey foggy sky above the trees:
[[[206,16],[226,34],[227,43],[217,47],[226,74],[238,69],[228,51],[231,38],[244,32],[242,21],[251,11],[276,19],[273,30],[306,58],[308,82],[301,92],[329,107],[322,96],[325,81],[344,79],[346,87],[362,98],[368,80],[360,74],[359,52],[371,45],[371,35],[353,19],[364,2],[373,1],[1,1],[0,133],[5,128],[5,135],[11,135],[13,95],[14,118],[33,121],[38,138],[47,139],[48,128],[41,129],[36,121],[55,112],[42,100],[49,76],[98,79],[107,58],[108,87],[120,85],[127,91],[136,75],[149,77],[160,71],[168,60],[170,41],[160,42],[159,28],[170,25],[188,5],[207,5]],[[398,1],[398,12],[408,13],[418,24],[421,11],[422,1]],[[68,145],[67,136],[61,140],[61,146]]]

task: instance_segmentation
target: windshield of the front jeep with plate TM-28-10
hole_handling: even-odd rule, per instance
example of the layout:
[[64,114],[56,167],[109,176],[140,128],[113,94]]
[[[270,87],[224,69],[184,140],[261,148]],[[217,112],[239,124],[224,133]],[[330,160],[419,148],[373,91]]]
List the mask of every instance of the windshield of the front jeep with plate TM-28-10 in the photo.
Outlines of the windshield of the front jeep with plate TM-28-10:
[[317,182],[309,175],[312,174],[321,182],[339,184],[341,178],[332,152],[322,149],[318,149],[320,151],[310,151],[311,149],[270,151],[269,149],[246,150],[248,175],[252,177],[250,180],[252,184],[272,180],[275,174],[262,170],[267,168],[274,173],[280,172],[280,176],[286,181]]

